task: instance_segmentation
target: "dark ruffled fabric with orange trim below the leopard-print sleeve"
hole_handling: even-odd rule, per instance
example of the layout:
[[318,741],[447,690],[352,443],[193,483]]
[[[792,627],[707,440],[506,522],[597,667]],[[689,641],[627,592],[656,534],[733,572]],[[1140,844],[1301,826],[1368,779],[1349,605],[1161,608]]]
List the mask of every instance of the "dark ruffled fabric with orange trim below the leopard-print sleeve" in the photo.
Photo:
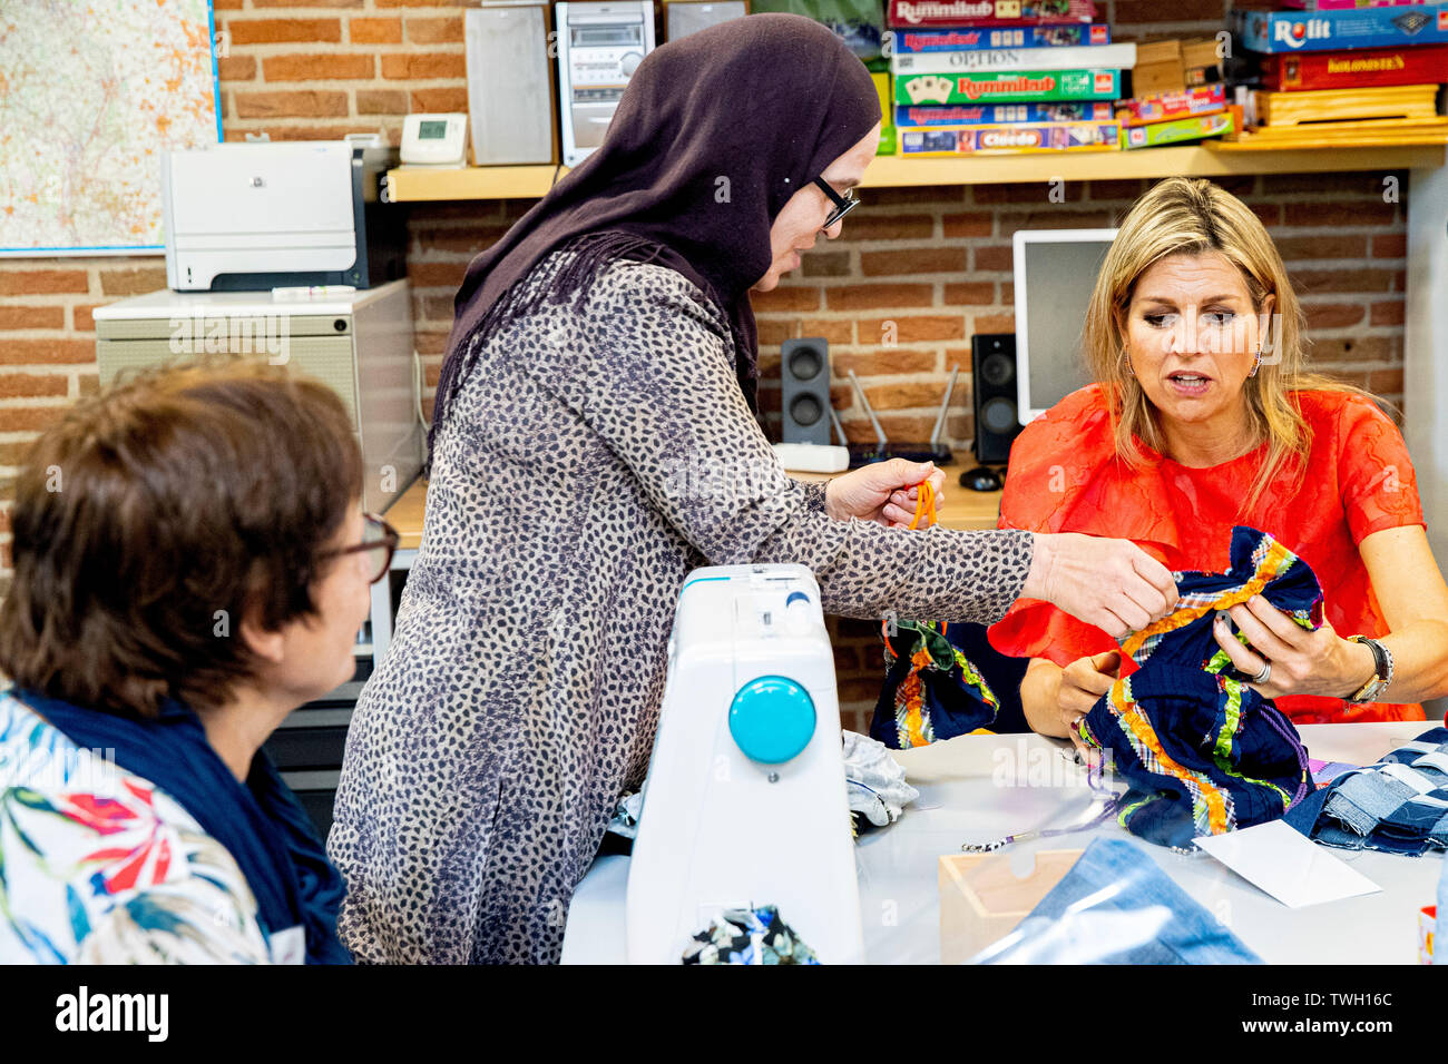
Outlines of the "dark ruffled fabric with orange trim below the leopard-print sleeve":
[[995,724],[1001,702],[946,622],[888,620],[882,634],[886,676],[870,738],[909,750]]

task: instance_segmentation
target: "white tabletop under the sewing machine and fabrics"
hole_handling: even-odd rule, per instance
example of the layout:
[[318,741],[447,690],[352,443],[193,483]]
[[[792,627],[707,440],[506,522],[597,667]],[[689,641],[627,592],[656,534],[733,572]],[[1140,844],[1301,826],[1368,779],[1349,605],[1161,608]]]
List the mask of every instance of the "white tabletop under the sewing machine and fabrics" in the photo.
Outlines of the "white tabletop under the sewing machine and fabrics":
[[[1431,727],[1432,721],[1318,724],[1300,731],[1312,757],[1368,764]],[[1092,792],[1079,782],[1079,772],[1066,761],[1053,767],[1057,751],[1066,748],[1064,740],[1040,735],[963,735],[896,754],[921,796],[899,821],[866,832],[856,847],[864,954],[870,963],[940,963],[935,876],[941,856],[960,853],[963,843],[1035,827],[1069,827],[1089,818]],[[1060,785],[1018,786],[1018,777]],[[1116,783],[1116,789],[1122,786]],[[1416,963],[1418,911],[1435,902],[1442,864],[1435,856],[1329,850],[1383,890],[1290,909],[1206,854],[1186,857],[1135,840],[1114,821],[1090,831],[1018,843],[999,856],[1025,873],[1035,850],[1082,848],[1098,837],[1135,841],[1267,963]],[[579,883],[569,911],[565,963],[627,960],[627,877],[628,858],[613,856],[598,860]]]

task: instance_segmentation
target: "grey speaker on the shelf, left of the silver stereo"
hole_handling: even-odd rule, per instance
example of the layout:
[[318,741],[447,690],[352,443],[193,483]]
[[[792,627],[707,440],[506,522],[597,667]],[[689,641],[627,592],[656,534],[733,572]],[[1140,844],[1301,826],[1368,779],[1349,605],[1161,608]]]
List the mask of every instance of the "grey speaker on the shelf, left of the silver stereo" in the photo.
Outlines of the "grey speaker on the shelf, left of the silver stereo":
[[557,162],[547,3],[521,0],[468,9],[463,54],[473,165]]

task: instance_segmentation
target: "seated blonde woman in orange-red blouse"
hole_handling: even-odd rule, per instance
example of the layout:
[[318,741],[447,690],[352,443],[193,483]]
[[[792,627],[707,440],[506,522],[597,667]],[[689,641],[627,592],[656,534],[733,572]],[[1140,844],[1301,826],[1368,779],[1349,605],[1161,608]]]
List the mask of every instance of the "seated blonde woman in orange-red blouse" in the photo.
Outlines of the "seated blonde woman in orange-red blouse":
[[[1413,463],[1371,397],[1306,372],[1302,329],[1257,216],[1209,181],[1161,181],[1096,281],[1096,384],[1016,439],[1001,525],[1119,536],[1173,570],[1218,572],[1232,525],[1270,533],[1318,575],[1328,624],[1299,628],[1261,596],[1234,607],[1251,647],[1215,634],[1237,670],[1299,724],[1422,719],[1419,701],[1448,693],[1448,588]],[[1016,602],[990,641],[1032,659],[1021,701],[1047,735],[1121,669],[1115,640],[1047,602]]]

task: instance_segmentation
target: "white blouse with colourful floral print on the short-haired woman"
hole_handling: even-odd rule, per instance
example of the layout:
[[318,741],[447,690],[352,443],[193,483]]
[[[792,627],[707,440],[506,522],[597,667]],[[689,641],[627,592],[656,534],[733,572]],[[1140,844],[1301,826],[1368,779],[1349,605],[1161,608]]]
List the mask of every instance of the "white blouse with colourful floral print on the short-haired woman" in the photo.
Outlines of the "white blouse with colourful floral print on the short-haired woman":
[[268,963],[232,856],[0,693],[0,964]]

